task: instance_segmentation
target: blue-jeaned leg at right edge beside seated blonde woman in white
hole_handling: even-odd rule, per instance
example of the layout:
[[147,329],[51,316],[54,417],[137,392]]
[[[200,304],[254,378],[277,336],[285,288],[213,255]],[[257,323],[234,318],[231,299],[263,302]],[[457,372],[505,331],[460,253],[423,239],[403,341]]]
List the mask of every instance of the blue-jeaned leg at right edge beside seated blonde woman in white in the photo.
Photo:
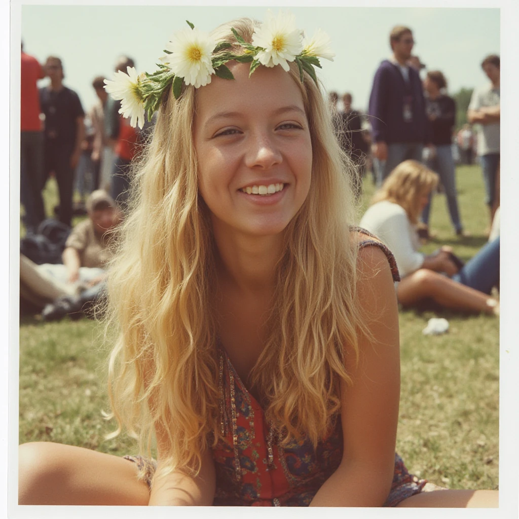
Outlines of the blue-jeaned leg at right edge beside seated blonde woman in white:
[[487,243],[452,279],[485,294],[499,286],[500,238]]

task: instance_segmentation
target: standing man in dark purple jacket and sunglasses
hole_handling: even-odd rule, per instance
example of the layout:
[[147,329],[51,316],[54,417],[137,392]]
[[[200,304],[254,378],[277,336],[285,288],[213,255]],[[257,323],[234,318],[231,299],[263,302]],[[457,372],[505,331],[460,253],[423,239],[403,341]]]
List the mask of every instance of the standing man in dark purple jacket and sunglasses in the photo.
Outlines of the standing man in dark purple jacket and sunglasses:
[[421,161],[424,144],[430,144],[420,76],[408,65],[414,45],[411,29],[394,27],[389,44],[392,56],[375,73],[369,107],[378,184],[400,162]]

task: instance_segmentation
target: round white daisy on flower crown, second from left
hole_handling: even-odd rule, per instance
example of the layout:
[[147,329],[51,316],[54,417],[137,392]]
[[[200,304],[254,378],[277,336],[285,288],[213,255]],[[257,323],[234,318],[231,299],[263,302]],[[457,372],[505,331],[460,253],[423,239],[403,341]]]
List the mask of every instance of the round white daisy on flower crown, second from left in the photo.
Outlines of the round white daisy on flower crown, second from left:
[[167,43],[167,54],[160,61],[168,65],[175,76],[183,77],[186,85],[195,88],[211,83],[214,74],[211,55],[216,40],[198,29],[184,29],[173,35]]

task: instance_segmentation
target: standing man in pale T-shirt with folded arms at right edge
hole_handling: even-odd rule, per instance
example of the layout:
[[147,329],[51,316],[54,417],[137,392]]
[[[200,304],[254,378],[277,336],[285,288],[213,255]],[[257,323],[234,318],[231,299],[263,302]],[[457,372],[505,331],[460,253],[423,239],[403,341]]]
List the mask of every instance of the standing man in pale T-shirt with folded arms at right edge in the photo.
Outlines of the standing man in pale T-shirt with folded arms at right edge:
[[485,181],[486,203],[490,210],[490,225],[499,207],[499,161],[500,161],[500,72],[499,56],[490,54],[481,63],[490,83],[474,90],[470,100],[467,119],[472,124],[480,124],[477,133],[477,154],[481,159]]

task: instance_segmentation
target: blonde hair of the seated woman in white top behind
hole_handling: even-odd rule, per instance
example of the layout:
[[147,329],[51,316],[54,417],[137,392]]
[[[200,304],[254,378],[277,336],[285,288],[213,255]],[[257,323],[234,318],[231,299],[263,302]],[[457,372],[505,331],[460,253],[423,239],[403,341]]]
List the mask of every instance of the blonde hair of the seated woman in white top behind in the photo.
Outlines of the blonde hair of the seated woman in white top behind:
[[398,203],[405,209],[411,223],[418,223],[421,195],[430,193],[439,176],[417,160],[404,160],[391,171],[382,187],[375,193],[371,205],[382,200]]

